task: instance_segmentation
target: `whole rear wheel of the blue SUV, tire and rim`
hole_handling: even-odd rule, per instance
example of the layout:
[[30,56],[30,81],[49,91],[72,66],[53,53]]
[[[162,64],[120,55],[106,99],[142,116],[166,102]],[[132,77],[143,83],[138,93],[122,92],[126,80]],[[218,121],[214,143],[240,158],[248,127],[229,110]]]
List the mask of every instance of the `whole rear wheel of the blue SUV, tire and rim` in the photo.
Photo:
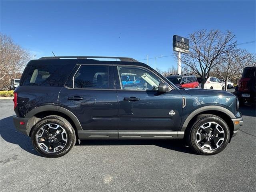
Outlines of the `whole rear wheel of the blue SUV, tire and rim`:
[[76,143],[76,135],[66,119],[51,115],[36,123],[31,133],[31,140],[40,154],[56,158],[71,150]]

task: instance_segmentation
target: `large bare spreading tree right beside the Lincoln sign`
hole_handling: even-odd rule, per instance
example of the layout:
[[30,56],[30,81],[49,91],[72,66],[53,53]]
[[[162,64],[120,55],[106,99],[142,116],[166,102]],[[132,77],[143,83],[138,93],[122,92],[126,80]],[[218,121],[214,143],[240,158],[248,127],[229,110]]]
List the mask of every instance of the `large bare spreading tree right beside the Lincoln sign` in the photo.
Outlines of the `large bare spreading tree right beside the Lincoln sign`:
[[190,51],[181,58],[183,68],[200,76],[201,88],[204,88],[210,70],[222,62],[222,55],[235,47],[234,34],[230,31],[223,33],[219,30],[198,30],[190,34]]

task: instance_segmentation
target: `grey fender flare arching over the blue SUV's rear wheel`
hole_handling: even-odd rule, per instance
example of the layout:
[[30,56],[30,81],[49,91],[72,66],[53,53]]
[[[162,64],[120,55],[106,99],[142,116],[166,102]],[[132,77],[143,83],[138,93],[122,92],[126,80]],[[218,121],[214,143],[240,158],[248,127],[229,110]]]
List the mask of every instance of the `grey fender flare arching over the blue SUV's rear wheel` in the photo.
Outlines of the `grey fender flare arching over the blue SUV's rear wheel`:
[[70,110],[60,106],[56,106],[56,105],[44,105],[44,106],[36,107],[32,109],[30,112],[28,112],[25,118],[32,118],[36,114],[44,111],[61,112],[66,116],[68,116],[74,122],[77,130],[83,130],[78,118]]

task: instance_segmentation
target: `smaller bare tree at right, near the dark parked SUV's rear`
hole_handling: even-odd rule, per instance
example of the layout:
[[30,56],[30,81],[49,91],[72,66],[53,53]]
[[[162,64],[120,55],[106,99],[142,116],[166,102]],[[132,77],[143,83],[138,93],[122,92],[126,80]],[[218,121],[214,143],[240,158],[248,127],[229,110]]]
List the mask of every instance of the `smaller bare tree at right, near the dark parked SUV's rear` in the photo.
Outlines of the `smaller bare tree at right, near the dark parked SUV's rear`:
[[234,49],[222,55],[222,62],[214,66],[214,71],[225,82],[225,90],[228,88],[228,80],[248,65],[249,56],[246,50]]

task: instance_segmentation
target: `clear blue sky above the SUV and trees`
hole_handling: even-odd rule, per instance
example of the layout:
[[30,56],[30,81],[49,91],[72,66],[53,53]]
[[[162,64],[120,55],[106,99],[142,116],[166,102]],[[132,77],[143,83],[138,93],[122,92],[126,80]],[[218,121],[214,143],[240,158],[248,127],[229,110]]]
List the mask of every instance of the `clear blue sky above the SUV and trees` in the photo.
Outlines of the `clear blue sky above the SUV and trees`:
[[[172,36],[199,29],[231,30],[256,40],[255,1],[0,1],[0,30],[36,55],[172,55]],[[256,52],[256,43],[240,45]],[[142,60],[146,63],[146,60]],[[154,59],[149,60],[154,67]],[[176,61],[158,58],[167,70]]]

